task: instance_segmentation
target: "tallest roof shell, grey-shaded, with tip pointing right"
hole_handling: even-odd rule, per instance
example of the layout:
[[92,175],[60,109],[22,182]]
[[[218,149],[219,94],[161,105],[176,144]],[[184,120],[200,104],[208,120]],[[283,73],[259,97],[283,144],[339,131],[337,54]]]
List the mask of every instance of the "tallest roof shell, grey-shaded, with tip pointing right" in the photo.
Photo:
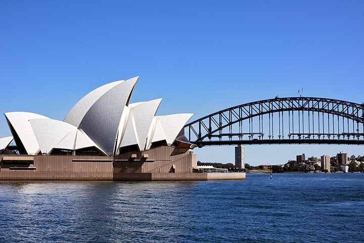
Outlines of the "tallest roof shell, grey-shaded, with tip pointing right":
[[108,90],[88,109],[78,126],[106,154],[114,154],[122,113],[138,78],[130,78]]

